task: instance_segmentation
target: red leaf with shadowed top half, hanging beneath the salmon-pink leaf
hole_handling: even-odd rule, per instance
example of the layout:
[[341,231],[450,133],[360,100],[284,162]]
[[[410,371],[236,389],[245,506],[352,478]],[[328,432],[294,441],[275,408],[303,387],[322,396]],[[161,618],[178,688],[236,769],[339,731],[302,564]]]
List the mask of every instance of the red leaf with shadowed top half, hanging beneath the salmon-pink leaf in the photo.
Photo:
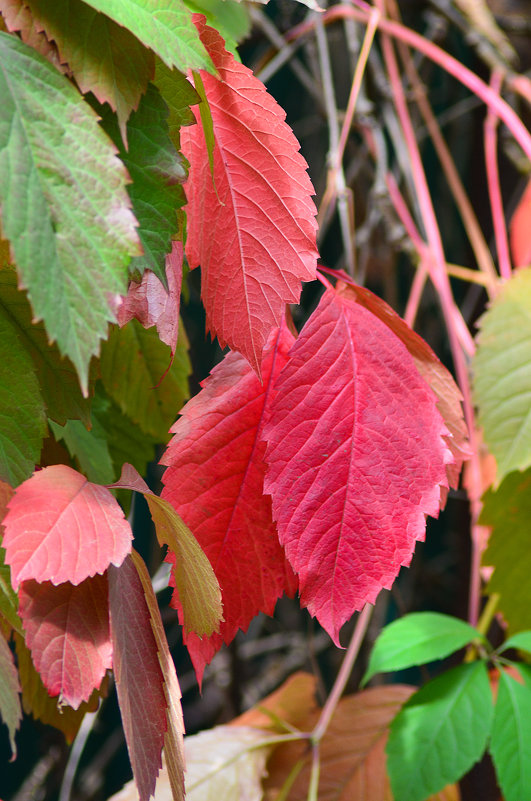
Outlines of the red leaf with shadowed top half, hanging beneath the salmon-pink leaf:
[[94,576],[77,587],[24,581],[19,614],[48,693],[77,709],[112,665],[107,577]]

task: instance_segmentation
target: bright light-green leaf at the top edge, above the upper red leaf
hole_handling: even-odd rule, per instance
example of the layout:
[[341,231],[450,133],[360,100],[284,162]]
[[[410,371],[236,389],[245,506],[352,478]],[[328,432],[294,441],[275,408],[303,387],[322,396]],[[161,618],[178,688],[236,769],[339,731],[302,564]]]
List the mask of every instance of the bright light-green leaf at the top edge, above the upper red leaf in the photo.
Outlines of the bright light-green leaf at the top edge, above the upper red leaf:
[[88,0],[119,25],[128,28],[168,67],[181,72],[214,67],[181,0]]

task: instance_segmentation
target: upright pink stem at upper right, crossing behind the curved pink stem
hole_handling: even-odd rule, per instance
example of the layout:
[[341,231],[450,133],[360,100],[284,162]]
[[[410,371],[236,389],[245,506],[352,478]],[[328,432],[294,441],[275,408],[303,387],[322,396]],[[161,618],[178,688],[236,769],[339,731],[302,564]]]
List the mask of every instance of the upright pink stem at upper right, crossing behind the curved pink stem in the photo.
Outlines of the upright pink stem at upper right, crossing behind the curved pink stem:
[[[499,70],[492,73],[490,85],[499,94],[502,85],[502,74]],[[485,118],[485,166],[487,172],[487,185],[489,189],[490,207],[494,227],[494,239],[498,254],[498,267],[502,278],[511,277],[511,258],[509,256],[509,242],[507,240],[507,226],[503,212],[503,201],[500,188],[500,175],[498,171],[498,137],[496,129],[498,118],[489,108]]]

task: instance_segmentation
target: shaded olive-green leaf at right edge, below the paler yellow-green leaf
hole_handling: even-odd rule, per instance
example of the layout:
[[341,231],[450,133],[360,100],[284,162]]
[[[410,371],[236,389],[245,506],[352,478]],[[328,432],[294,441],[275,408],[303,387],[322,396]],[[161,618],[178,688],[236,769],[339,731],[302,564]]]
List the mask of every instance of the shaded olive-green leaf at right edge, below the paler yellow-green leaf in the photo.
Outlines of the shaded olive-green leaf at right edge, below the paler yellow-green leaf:
[[511,631],[531,629],[529,576],[529,520],[531,518],[531,469],[511,473],[496,492],[483,497],[480,522],[492,526],[484,565],[494,566],[487,593],[500,594],[500,609]]

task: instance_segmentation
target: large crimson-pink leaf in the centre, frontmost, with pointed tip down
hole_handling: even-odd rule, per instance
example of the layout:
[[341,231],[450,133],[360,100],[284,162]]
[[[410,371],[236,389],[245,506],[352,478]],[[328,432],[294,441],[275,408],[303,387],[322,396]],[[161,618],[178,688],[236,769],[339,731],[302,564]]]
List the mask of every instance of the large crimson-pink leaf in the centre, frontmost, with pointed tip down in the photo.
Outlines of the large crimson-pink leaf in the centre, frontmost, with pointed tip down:
[[264,433],[265,491],[301,603],[338,643],[436,515],[452,457],[436,399],[377,317],[325,292],[290,351]]

